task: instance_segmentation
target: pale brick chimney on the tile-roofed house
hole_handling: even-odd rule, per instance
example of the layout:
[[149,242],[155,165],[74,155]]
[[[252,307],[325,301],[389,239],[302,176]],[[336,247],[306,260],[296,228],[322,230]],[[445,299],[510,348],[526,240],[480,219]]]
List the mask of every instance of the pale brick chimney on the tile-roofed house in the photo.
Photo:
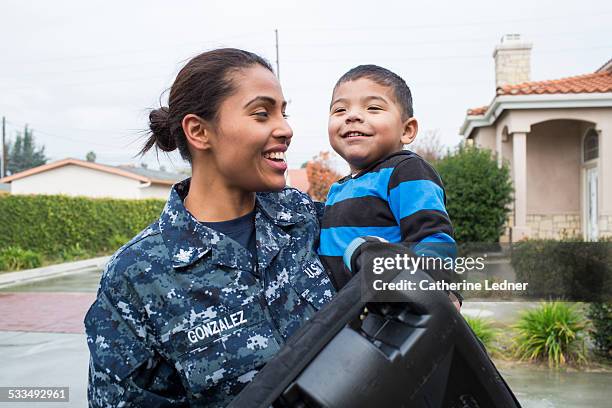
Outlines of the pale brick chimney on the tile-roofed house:
[[493,51],[495,88],[530,81],[531,47],[520,34],[506,34]]

